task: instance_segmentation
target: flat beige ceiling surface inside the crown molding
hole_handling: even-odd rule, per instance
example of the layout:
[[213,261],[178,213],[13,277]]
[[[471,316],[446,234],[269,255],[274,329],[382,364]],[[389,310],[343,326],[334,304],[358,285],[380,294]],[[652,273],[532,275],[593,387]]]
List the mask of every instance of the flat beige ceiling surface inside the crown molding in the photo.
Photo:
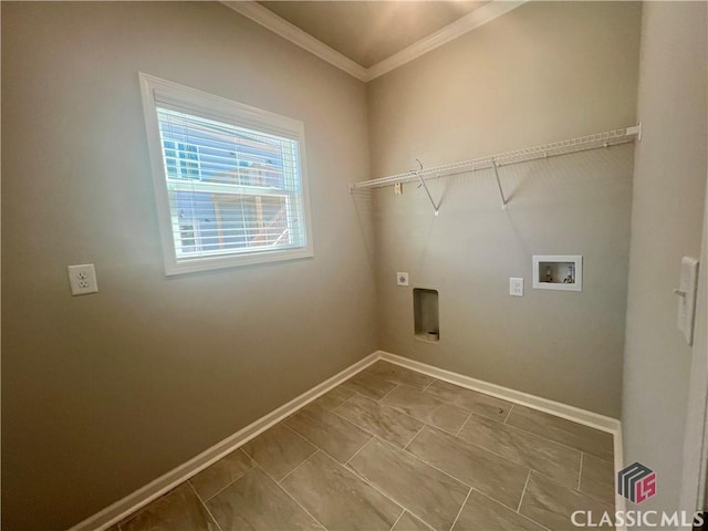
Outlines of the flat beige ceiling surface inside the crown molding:
[[482,1],[260,1],[365,69],[481,8]]

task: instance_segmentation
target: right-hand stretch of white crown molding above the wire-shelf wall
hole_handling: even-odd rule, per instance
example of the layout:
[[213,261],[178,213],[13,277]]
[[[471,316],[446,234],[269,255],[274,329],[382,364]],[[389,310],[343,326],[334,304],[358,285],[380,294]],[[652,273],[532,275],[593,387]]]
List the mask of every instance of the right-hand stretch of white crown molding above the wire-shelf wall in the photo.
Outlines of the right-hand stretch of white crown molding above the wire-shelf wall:
[[366,70],[366,81],[375,80],[376,77],[387,74],[392,70],[403,66],[414,59],[418,59],[420,55],[472,31],[475,28],[479,28],[497,17],[501,17],[512,9],[523,6],[525,2],[527,0],[492,0],[435,33],[410,44],[408,48],[404,48],[391,58],[384,59],[373,66],[369,66]]

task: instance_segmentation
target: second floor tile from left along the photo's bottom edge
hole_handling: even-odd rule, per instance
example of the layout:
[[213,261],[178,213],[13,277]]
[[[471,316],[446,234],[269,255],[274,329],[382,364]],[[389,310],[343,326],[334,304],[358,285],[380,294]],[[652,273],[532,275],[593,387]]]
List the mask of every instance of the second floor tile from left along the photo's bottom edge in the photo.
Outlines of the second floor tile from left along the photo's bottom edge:
[[221,531],[323,529],[259,468],[211,498],[207,507]]

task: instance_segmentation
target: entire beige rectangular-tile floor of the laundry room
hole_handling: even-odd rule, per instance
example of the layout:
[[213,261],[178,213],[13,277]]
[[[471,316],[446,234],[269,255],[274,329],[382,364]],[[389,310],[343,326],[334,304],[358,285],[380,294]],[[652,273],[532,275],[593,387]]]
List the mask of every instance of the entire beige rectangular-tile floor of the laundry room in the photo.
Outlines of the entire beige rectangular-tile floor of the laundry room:
[[570,530],[612,435],[377,362],[110,531]]

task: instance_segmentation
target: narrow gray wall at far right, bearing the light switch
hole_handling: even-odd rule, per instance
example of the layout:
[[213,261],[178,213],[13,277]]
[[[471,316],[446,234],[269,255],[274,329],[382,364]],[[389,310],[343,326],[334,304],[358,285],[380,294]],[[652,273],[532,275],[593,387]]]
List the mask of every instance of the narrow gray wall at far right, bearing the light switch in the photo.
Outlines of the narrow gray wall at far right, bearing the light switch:
[[[625,462],[657,472],[642,510],[676,510],[691,348],[676,329],[680,259],[700,257],[706,186],[705,2],[648,2],[638,119],[622,421]],[[705,371],[705,368],[704,368]]]

